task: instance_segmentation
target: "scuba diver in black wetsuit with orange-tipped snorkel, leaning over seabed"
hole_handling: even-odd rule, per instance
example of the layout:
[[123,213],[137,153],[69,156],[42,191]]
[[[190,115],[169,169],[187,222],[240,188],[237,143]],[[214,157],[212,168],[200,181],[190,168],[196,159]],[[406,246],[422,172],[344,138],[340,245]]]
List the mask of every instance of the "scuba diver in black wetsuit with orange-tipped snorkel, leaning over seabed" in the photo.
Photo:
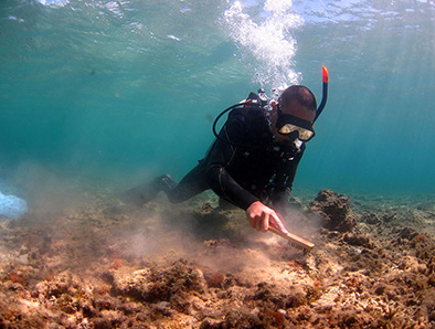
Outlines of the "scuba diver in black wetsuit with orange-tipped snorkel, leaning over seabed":
[[[178,184],[169,174],[127,191],[123,200],[141,205],[163,191],[179,203],[212,189],[221,199],[246,211],[251,226],[288,233],[279,213],[288,202],[306,144],[315,137],[314,123],[327,99],[328,72],[323,66],[323,95],[317,108],[312,92],[301,85],[286,88],[278,100],[263,89],[222,112],[213,124],[216,137],[204,159]],[[225,113],[226,123],[215,126]]]

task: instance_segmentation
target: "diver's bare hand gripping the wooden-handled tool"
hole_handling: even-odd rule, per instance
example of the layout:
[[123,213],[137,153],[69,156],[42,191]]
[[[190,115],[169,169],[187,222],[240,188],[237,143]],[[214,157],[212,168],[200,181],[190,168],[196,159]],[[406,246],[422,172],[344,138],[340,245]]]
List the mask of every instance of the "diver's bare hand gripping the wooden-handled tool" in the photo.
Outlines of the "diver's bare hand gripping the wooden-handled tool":
[[259,201],[253,202],[246,209],[246,219],[250,221],[251,226],[258,232],[267,232],[269,226],[274,226],[285,234],[288,233],[277,213]]

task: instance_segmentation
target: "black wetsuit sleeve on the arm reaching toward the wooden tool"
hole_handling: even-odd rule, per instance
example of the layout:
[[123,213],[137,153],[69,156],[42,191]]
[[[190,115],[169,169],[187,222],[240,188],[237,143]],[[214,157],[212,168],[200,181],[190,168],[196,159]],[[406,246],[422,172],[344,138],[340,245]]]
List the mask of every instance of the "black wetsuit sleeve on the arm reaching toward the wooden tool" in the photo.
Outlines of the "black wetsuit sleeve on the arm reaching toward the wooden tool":
[[227,169],[237,156],[237,146],[225,140],[243,144],[245,134],[245,121],[242,115],[229,118],[219,134],[220,138],[215,140],[206,157],[206,181],[210,188],[222,199],[244,210],[258,199],[241,187],[229,173]]

